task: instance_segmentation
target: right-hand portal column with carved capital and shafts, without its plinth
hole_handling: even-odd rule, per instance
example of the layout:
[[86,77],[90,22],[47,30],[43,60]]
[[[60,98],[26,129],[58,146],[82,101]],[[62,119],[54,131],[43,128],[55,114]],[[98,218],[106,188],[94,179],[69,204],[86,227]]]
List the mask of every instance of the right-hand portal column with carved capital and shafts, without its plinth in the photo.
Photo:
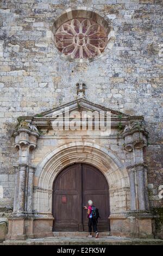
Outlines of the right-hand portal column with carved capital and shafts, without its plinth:
[[122,136],[124,149],[131,154],[131,165],[127,167],[130,179],[130,209],[147,209],[147,187],[145,181],[145,164],[143,160],[143,147],[147,145],[147,132],[140,121],[127,125]]

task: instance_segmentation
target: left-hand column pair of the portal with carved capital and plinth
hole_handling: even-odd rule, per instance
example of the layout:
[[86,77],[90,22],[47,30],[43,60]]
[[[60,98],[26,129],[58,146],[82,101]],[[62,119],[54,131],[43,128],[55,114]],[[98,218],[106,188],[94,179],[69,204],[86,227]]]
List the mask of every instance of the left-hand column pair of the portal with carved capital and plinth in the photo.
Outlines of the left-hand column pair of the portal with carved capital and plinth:
[[[18,149],[18,172],[15,175],[14,212],[9,218],[7,239],[26,239],[32,234],[33,217],[33,175],[34,168],[30,167],[30,154],[36,148],[39,137],[37,128],[27,121],[21,121],[14,132],[15,147]],[[30,216],[28,216],[28,212]],[[26,222],[26,223],[25,223]],[[28,222],[28,224],[27,224]],[[29,228],[30,223],[30,228]]]

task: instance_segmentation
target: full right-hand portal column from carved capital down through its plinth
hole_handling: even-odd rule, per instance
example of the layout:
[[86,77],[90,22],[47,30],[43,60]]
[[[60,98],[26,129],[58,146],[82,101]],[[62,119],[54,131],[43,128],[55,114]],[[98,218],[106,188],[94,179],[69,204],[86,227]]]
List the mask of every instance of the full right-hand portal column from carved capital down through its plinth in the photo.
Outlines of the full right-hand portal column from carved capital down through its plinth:
[[130,179],[130,232],[136,237],[152,237],[152,215],[149,214],[147,193],[147,166],[143,159],[143,147],[147,145],[147,132],[141,121],[127,125],[122,136],[124,150],[128,151],[127,166]]

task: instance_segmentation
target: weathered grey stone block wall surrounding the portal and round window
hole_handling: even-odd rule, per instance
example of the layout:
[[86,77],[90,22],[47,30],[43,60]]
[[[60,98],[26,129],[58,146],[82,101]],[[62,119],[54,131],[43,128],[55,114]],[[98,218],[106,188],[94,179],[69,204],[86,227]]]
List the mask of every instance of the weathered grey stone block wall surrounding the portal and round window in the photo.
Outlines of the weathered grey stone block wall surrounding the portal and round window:
[[[12,208],[17,152],[12,132],[20,115],[34,115],[76,99],[76,83],[86,99],[126,114],[143,115],[149,132],[151,208],[161,208],[163,180],[161,83],[162,4],[159,0],[13,0],[1,2],[1,209]],[[110,52],[90,63],[60,58],[52,26],[68,8],[89,7],[108,17],[115,31]],[[155,211],[154,211],[155,212]],[[159,231],[161,234],[162,231]]]

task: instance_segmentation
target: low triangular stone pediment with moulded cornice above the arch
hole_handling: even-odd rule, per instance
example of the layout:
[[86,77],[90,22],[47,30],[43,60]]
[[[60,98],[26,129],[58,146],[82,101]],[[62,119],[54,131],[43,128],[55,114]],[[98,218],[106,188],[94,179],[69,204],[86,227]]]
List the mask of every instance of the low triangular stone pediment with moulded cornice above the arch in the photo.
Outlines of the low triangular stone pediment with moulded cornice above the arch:
[[78,99],[66,103],[65,105],[50,109],[46,112],[36,114],[33,116],[19,117],[19,120],[23,120],[29,124],[35,125],[39,129],[43,127],[51,126],[53,120],[62,115],[65,116],[66,111],[71,113],[81,113],[82,111],[91,111],[91,112],[102,112],[106,115],[107,112],[111,114],[111,127],[117,128],[120,125],[122,128],[126,125],[133,123],[133,121],[143,121],[142,116],[130,116],[128,114],[123,114],[122,112],[115,111],[110,108],[106,108],[96,103],[87,101],[86,99]]

